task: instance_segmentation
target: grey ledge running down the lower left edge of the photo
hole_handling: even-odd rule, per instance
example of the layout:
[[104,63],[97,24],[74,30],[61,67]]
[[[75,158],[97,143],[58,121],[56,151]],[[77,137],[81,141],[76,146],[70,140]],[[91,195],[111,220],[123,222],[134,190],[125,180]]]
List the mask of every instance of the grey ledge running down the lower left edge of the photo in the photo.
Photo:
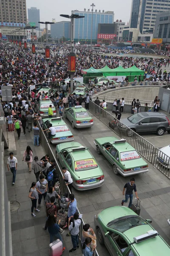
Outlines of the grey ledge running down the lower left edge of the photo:
[[0,127],[0,255],[12,256],[10,202],[4,168],[4,143]]

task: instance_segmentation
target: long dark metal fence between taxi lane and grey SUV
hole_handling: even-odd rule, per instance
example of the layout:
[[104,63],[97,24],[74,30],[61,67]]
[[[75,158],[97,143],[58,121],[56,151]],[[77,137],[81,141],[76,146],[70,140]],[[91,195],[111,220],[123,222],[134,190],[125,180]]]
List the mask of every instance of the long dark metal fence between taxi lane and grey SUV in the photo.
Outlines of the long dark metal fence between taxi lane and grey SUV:
[[110,113],[100,108],[94,102],[89,102],[89,111],[94,114],[100,121],[113,130],[119,137],[126,139],[143,157],[150,163],[153,161],[154,145],[142,138],[135,131],[122,124]]

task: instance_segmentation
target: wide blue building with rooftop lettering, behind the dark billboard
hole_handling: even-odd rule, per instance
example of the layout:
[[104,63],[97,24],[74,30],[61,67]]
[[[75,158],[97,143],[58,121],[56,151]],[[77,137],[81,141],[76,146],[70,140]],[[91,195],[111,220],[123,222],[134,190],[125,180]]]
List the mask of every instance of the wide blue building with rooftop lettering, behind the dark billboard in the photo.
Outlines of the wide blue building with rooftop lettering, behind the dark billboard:
[[[84,9],[84,12],[79,12],[78,10],[71,11],[71,14],[77,14],[80,16],[85,16],[82,19],[74,19],[74,28],[73,28],[73,36],[74,39],[91,39],[91,20],[92,20],[92,12],[88,9]],[[97,39],[98,33],[98,24],[99,23],[113,23],[114,21],[114,12],[108,11],[97,12],[94,10],[93,12],[93,24],[92,24],[92,39]]]

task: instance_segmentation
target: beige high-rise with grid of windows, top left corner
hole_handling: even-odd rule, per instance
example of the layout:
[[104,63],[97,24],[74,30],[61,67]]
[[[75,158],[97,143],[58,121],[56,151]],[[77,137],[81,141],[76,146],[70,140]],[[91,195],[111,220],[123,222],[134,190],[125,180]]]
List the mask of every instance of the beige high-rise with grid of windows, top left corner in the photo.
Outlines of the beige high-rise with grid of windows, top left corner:
[[26,0],[0,0],[0,22],[26,23]]

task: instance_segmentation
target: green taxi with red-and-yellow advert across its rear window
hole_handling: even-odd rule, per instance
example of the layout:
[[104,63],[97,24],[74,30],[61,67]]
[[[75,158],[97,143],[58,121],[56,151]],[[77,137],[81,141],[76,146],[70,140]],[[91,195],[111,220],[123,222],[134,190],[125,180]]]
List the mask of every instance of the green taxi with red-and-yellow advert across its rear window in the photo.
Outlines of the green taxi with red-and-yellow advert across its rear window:
[[95,189],[103,185],[102,169],[89,148],[83,147],[78,142],[62,143],[56,146],[56,157],[71,173],[75,189]]

